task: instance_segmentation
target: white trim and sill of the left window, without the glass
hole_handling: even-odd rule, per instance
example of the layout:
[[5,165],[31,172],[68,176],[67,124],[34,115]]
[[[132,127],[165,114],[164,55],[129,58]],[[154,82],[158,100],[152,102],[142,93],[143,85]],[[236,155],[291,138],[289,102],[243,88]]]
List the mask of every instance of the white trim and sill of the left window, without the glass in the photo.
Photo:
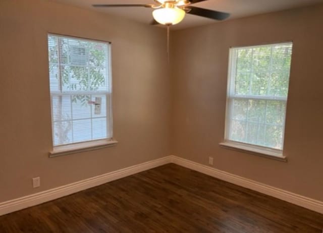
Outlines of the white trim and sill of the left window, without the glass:
[[[90,42],[100,42],[100,43],[106,43],[109,49],[109,52],[107,53],[107,59],[109,62],[109,69],[107,69],[108,72],[108,77],[109,77],[109,90],[106,93],[104,91],[104,95],[106,95],[106,99],[109,101],[106,101],[106,109],[109,109],[109,121],[107,121],[107,128],[110,128],[110,137],[109,138],[103,138],[103,139],[97,139],[97,140],[91,140],[91,141],[83,141],[83,142],[76,142],[76,143],[69,143],[69,144],[64,144],[64,145],[57,145],[54,146],[53,143],[53,138],[52,138],[52,150],[49,151],[49,157],[57,157],[57,156],[62,156],[62,155],[67,155],[67,154],[73,154],[73,153],[78,153],[78,152],[84,152],[84,151],[91,151],[91,150],[96,150],[96,149],[101,149],[105,147],[111,147],[115,146],[118,141],[114,140],[113,138],[113,79],[112,79],[112,55],[111,55],[111,50],[112,50],[112,43],[110,41],[105,41],[105,40],[97,40],[97,39],[90,39],[86,37],[79,37],[79,36],[71,36],[71,35],[65,35],[65,34],[59,34],[59,33],[52,33],[48,32],[47,33],[47,46],[48,46],[48,37],[49,36],[58,36],[58,37],[67,37],[67,38],[73,38],[73,39],[79,39],[79,40],[87,40]],[[47,57],[49,57],[49,51],[47,49]],[[49,59],[48,59],[48,68],[49,68]],[[49,69],[48,69],[48,75],[49,75]],[[48,77],[49,78],[49,77]],[[50,82],[50,80],[49,80]],[[49,88],[50,89],[50,88]],[[51,92],[49,90],[49,97],[50,99],[52,98],[52,95],[71,95],[71,94],[77,94],[76,92],[69,91],[69,92],[60,92],[60,93],[55,93]],[[103,94],[102,91],[95,92],[95,94]],[[84,94],[84,93],[82,93]],[[109,98],[107,98],[109,96]],[[52,105],[50,101],[50,111],[52,112]],[[109,107],[108,107],[109,106]],[[52,113],[51,113],[51,130],[52,130],[52,137],[53,137],[53,118],[52,118]],[[107,116],[106,116],[107,117]],[[109,126],[108,126],[109,125]]]

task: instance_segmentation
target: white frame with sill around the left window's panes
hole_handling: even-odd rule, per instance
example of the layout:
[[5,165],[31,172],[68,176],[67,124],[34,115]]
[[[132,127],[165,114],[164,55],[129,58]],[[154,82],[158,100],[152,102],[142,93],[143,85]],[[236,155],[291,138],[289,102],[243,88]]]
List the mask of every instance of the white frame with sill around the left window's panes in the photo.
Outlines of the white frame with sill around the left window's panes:
[[[80,38],[80,37],[74,37],[74,36],[67,36],[67,35],[61,35],[61,34],[55,34],[55,33],[48,33],[47,38],[49,36],[57,36],[57,37],[64,37],[64,38],[73,38],[78,40],[87,40],[87,41],[94,41],[94,42],[100,42],[100,43],[106,43],[108,46],[109,51],[107,52],[107,59],[108,59],[108,68],[107,68],[107,78],[109,79],[109,89],[107,91],[50,91],[50,99],[52,99],[52,96],[64,96],[64,95],[105,95],[106,96],[106,127],[107,132],[109,132],[110,137],[104,138],[104,139],[98,139],[98,140],[90,140],[90,141],[83,141],[83,142],[76,142],[76,143],[69,143],[64,145],[54,145],[54,130],[53,130],[53,116],[51,113],[51,130],[52,130],[52,150],[49,152],[49,157],[56,157],[61,155],[67,155],[72,153],[78,153],[83,151],[90,151],[90,150],[96,150],[100,148],[110,147],[114,146],[118,143],[118,141],[113,139],[113,107],[112,107],[112,71],[111,71],[111,42],[102,41],[102,40],[94,40],[94,39],[87,39],[87,38]],[[47,42],[48,44],[48,42]],[[47,50],[48,51],[48,50]],[[47,57],[49,56],[49,53],[47,54]],[[48,67],[49,67],[49,60],[48,60]],[[49,74],[49,72],[48,72]],[[109,97],[108,97],[109,96]],[[108,101],[109,100],[109,101]],[[50,101],[50,109],[52,112],[52,101]],[[109,114],[108,114],[109,112]],[[108,131],[109,129],[109,131]]]

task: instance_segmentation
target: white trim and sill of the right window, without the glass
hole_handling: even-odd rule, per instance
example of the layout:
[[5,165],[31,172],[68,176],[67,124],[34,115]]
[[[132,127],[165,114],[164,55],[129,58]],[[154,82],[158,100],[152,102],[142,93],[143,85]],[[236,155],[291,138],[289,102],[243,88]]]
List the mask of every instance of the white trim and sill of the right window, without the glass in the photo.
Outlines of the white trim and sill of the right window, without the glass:
[[[235,67],[235,65],[233,64],[236,63],[236,61],[233,61],[233,56],[234,56],[234,50],[233,49],[239,49],[239,48],[244,48],[244,47],[248,47],[248,48],[254,48],[254,47],[258,47],[258,46],[265,46],[265,45],[275,45],[275,44],[287,44],[287,43],[292,43],[293,45],[293,41],[283,41],[283,42],[276,42],[276,43],[265,43],[265,44],[259,44],[259,45],[252,45],[252,46],[236,46],[236,47],[230,47],[229,48],[229,62],[228,62],[228,77],[227,77],[227,96],[226,96],[226,112],[225,112],[225,134],[224,134],[224,141],[219,143],[219,145],[222,148],[226,148],[226,149],[232,149],[232,150],[236,150],[236,151],[240,151],[240,152],[244,152],[244,153],[248,153],[248,154],[254,154],[254,155],[259,155],[262,157],[266,157],[266,158],[271,158],[271,159],[275,159],[275,160],[279,160],[279,161],[284,161],[287,162],[287,157],[283,154],[283,149],[274,149],[274,148],[270,148],[270,147],[263,147],[263,146],[258,146],[258,145],[253,145],[253,144],[248,144],[248,143],[242,143],[242,142],[236,142],[236,141],[232,141],[229,140],[228,136],[229,136],[229,127],[230,127],[230,120],[228,119],[228,115],[230,113],[230,99],[235,98],[235,97],[231,97],[231,74],[233,72],[233,68]],[[291,67],[290,67],[291,69]],[[289,77],[290,78],[290,77]],[[250,96],[236,96],[238,98],[248,98]],[[251,98],[253,99],[262,99],[261,96],[252,96]],[[284,97],[273,97],[273,98],[268,98],[268,99],[272,99],[272,100],[278,100],[278,101],[285,101],[286,102],[286,106],[287,106],[287,99],[288,96],[286,98]],[[284,145],[284,141],[285,141],[285,127],[286,127],[286,113],[285,113],[285,120],[284,120],[284,131],[283,131],[283,140],[282,143]]]

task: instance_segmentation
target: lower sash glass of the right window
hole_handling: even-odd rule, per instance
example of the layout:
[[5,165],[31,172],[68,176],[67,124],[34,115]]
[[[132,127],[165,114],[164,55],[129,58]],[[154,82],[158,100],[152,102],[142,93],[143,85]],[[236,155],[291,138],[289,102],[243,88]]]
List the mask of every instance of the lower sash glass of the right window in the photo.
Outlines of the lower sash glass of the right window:
[[232,108],[230,140],[282,148],[285,101],[234,99]]

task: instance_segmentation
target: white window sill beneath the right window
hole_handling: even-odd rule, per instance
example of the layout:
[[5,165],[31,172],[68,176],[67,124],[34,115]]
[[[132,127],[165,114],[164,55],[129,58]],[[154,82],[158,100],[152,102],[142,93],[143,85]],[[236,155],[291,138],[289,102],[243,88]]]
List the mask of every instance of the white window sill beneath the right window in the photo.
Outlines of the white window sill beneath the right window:
[[243,143],[236,142],[222,142],[220,146],[227,149],[237,150],[240,152],[245,152],[249,154],[254,154],[270,159],[275,159],[283,162],[287,162],[287,157],[283,155],[282,151],[279,150],[271,150],[262,147],[247,145]]

